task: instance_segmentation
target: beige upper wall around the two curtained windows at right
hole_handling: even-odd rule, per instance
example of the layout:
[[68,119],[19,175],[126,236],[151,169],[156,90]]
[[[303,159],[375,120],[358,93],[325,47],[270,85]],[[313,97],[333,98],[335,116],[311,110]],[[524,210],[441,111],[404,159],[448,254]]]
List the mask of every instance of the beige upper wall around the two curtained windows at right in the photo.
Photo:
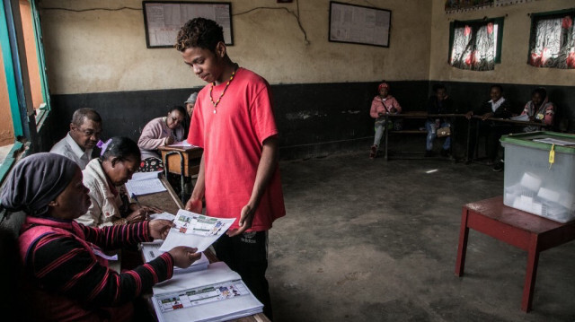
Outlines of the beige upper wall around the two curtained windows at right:
[[[575,6],[574,0],[538,0],[492,7],[465,13],[445,13],[445,0],[433,0],[429,79],[452,82],[522,83],[575,86],[575,70],[538,68],[527,65],[531,18],[528,13],[544,13]],[[495,70],[475,72],[447,65],[449,22],[505,16],[501,64]]]

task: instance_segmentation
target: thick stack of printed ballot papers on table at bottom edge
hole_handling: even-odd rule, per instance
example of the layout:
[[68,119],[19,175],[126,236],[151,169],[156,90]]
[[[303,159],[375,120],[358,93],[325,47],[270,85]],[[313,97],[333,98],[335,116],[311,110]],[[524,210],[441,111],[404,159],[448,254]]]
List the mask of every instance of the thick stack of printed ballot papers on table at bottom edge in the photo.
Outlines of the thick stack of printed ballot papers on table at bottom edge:
[[153,288],[159,322],[227,321],[260,313],[263,304],[245,286],[239,274],[224,262],[173,278]]

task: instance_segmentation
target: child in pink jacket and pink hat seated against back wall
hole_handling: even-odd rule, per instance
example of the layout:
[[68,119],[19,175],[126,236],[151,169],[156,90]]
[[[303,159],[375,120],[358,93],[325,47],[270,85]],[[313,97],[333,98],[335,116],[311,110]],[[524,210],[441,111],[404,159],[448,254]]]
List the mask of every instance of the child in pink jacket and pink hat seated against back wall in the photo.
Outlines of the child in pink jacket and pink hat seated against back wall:
[[397,100],[389,94],[389,84],[380,83],[377,86],[377,91],[379,95],[374,97],[371,101],[371,109],[369,115],[376,119],[376,137],[374,138],[374,144],[371,146],[369,151],[369,158],[374,159],[377,155],[377,147],[381,142],[381,138],[385,131],[385,114],[396,114],[402,112],[402,107],[399,105]]

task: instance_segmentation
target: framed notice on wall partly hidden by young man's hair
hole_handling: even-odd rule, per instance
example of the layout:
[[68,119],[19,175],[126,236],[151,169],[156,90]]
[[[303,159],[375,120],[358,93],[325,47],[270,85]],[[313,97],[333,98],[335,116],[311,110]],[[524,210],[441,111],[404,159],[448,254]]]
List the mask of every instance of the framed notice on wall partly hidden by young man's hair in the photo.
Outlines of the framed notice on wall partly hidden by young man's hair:
[[226,45],[234,45],[231,3],[142,1],[147,48],[170,48],[178,31],[190,19],[211,19],[224,28]]

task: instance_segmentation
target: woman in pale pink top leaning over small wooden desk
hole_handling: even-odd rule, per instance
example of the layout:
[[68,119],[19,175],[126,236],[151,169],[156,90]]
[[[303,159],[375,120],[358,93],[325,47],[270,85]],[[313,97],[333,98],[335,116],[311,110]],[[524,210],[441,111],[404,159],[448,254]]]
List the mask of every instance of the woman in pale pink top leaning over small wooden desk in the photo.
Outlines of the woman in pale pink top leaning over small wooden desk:
[[164,165],[157,149],[183,141],[185,131],[182,124],[186,115],[185,109],[174,106],[168,111],[167,117],[156,117],[144,126],[142,135],[137,140],[137,146],[142,152],[141,171],[163,170]]

